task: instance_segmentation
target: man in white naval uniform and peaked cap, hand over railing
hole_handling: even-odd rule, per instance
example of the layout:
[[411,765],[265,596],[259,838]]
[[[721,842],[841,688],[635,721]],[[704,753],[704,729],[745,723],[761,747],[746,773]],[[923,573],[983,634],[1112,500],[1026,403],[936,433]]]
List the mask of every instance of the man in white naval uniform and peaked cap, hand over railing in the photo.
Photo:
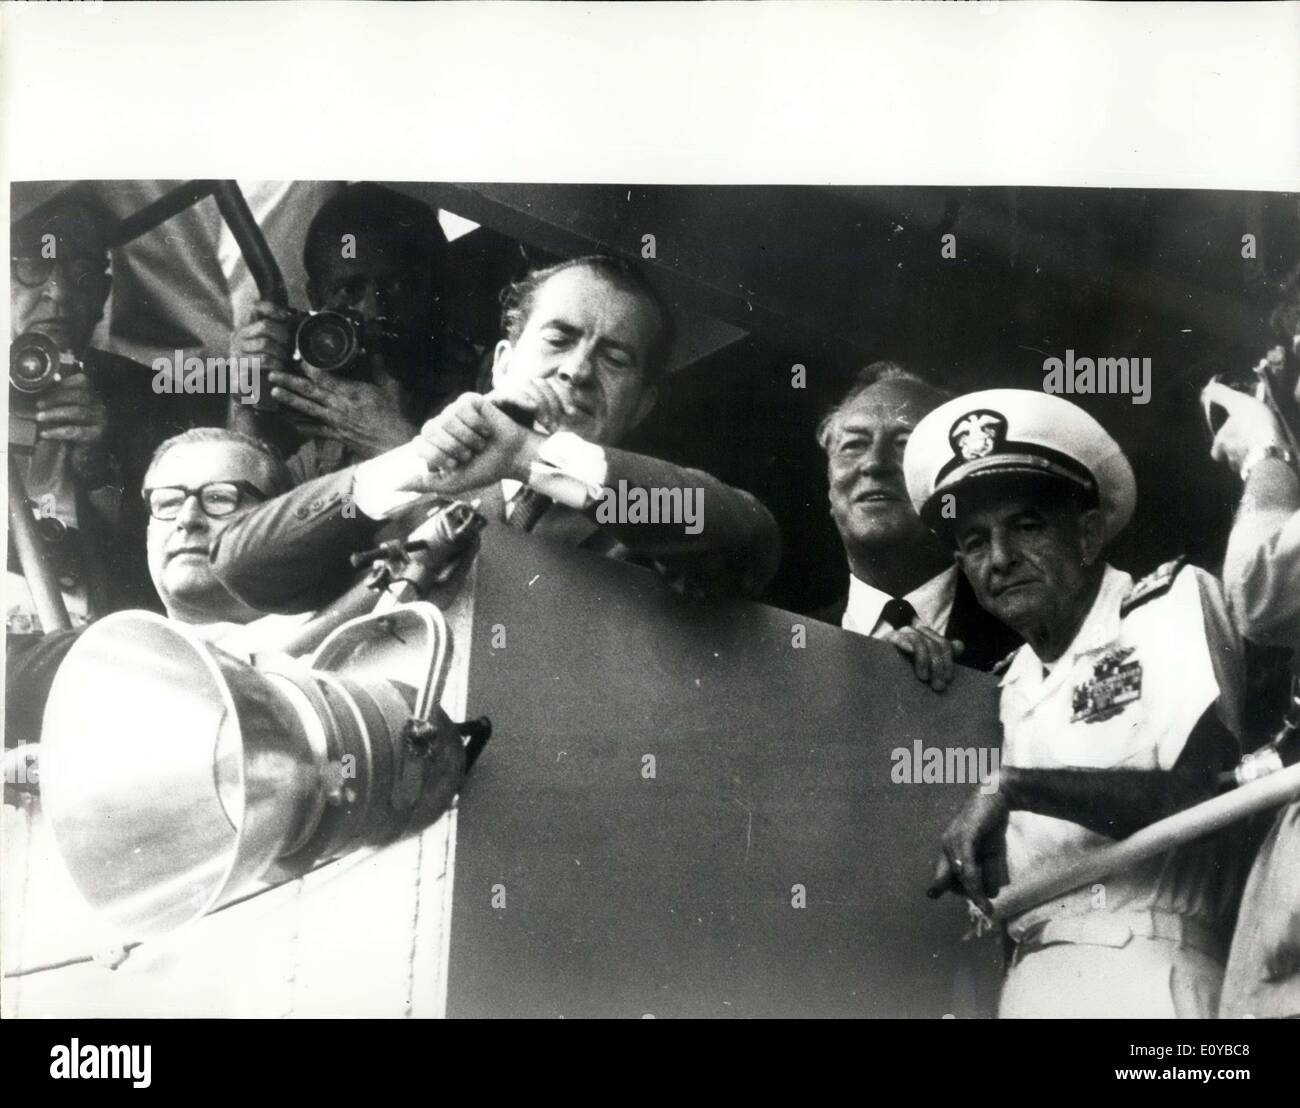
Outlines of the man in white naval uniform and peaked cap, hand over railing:
[[[961,397],[916,427],[905,468],[980,605],[1026,640],[1002,670],[1000,787],[949,826],[931,886],[988,910],[1005,880],[1213,795],[1239,754],[1240,640],[1208,574],[1170,563],[1134,584],[1105,562],[1134,476],[1070,402]],[[1236,854],[1210,836],[1008,921],[1000,1016],[1213,1016]]]

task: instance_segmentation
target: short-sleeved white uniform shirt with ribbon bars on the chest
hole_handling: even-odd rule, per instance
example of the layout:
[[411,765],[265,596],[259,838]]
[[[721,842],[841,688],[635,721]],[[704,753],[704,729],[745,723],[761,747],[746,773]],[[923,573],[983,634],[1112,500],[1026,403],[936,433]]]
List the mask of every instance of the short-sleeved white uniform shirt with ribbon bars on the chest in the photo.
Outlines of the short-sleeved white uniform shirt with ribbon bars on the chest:
[[[1202,713],[1221,696],[1201,588],[1202,571],[1178,574],[1167,592],[1121,616],[1132,579],[1110,566],[1069,649],[1044,672],[1026,644],[1001,681],[1002,763],[1026,769],[1170,770]],[[1216,644],[1218,649],[1221,644]],[[1231,701],[1232,694],[1228,694]],[[1006,830],[1011,883],[1045,864],[1112,843],[1078,823],[1017,810]],[[1192,843],[1069,892],[1013,919],[1019,939],[1045,919],[1162,910],[1221,927],[1222,840]]]

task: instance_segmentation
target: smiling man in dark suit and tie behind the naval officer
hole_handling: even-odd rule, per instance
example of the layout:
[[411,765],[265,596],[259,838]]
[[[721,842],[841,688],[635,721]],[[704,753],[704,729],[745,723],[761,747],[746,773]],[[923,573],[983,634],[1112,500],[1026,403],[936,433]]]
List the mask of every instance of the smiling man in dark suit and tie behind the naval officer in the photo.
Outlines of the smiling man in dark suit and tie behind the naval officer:
[[919,375],[875,362],[818,427],[849,588],[816,615],[893,642],[913,655],[916,675],[936,691],[950,680],[954,659],[991,670],[1020,642],[976,603],[952,550],[922,523],[907,497],[907,438],[945,399]]

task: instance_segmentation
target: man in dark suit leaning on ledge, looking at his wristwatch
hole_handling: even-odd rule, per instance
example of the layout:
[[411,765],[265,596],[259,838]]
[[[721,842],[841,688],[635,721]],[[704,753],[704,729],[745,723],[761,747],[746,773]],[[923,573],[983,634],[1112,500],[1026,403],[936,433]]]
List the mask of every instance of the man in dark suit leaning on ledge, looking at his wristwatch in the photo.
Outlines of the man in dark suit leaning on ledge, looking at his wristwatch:
[[217,576],[264,611],[302,611],[347,587],[347,555],[385,520],[410,531],[421,498],[480,501],[491,524],[654,566],[692,593],[757,596],[780,541],[749,493],[618,449],[654,407],[672,320],[633,268],[603,256],[507,290],[493,390],[467,393],[408,446],[272,501],[225,534]]

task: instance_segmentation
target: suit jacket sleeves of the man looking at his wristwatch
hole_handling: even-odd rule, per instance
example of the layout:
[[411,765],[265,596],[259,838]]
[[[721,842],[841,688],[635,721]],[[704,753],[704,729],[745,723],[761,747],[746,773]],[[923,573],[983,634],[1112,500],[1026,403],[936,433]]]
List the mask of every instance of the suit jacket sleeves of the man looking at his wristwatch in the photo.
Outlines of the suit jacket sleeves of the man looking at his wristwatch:
[[[566,546],[653,564],[693,590],[758,596],[776,572],[776,521],[753,495],[699,469],[606,447],[606,484],[628,488],[702,489],[698,534],[672,523],[608,523],[595,512],[552,505],[534,534]],[[213,544],[213,570],[244,603],[260,611],[309,611],[339,596],[355,579],[347,557],[377,540],[408,533],[422,518],[419,505],[389,523],[376,523],[351,503],[355,467],[307,481],[256,507]],[[481,498],[480,511],[504,525],[500,485],[459,494]],[[485,536],[486,537],[486,536]]]

